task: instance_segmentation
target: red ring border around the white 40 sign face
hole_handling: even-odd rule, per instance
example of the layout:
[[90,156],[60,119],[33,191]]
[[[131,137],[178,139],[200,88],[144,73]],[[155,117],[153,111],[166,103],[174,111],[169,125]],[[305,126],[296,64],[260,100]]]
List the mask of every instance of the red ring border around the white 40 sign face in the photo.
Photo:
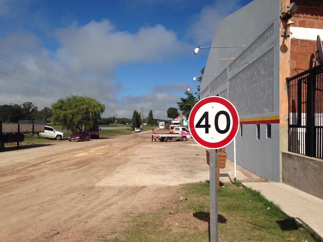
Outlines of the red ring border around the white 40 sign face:
[[[215,143],[207,142],[207,141],[203,140],[202,138],[200,138],[200,136],[198,136],[198,134],[196,133],[195,126],[194,126],[194,117],[195,117],[197,110],[200,109],[203,105],[205,105],[207,103],[211,103],[211,102],[220,103],[220,104],[224,105],[229,110],[229,112],[232,116],[232,121],[233,121],[233,126],[232,126],[232,129],[231,129],[231,132],[229,133],[229,135],[226,138],[224,138],[223,140],[221,140],[219,142],[215,142]],[[234,121],[236,121],[236,127],[234,127],[235,126]],[[219,148],[222,148],[222,147],[230,144],[231,141],[236,136],[236,134],[238,133],[238,129],[239,129],[238,112],[235,109],[235,107],[233,106],[233,104],[223,97],[219,97],[219,96],[205,97],[193,106],[190,116],[189,116],[189,127],[190,127],[191,135],[193,136],[195,141],[197,143],[199,143],[201,146],[203,146],[205,148],[209,148],[209,149],[219,149]],[[193,128],[191,128],[191,127],[193,127]]]

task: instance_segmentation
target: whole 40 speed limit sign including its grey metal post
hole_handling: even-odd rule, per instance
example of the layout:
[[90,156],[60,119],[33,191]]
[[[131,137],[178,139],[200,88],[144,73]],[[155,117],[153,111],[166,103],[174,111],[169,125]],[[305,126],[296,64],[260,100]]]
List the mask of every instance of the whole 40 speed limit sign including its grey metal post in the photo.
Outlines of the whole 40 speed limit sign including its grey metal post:
[[231,143],[238,133],[239,115],[227,99],[210,96],[198,101],[189,116],[194,140],[210,149],[210,242],[218,242],[217,149]]

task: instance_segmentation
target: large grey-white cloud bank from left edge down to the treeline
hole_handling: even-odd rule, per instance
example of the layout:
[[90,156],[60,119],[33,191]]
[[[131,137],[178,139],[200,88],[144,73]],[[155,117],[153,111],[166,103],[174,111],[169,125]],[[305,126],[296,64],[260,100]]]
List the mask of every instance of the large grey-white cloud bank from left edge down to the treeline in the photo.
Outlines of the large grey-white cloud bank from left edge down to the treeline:
[[[57,37],[60,45],[56,51],[43,47],[36,35],[17,31],[0,39],[0,45],[3,47],[0,54],[89,95],[93,95],[95,75],[94,96],[104,102],[125,107],[122,109],[105,103],[107,110],[104,116],[120,112],[119,117],[131,117],[132,111],[141,106],[148,111],[153,109],[155,115],[161,116],[166,112],[169,103],[173,106],[179,101],[179,96],[162,93],[116,97],[124,88],[123,80],[114,80],[115,70],[120,65],[138,62],[159,63],[177,55],[181,51],[180,46],[186,46],[177,39],[174,32],[166,30],[162,25],[142,27],[137,33],[130,34],[117,31],[108,20],[91,21],[84,26],[73,23],[67,28],[57,30],[53,36]],[[65,98],[55,92],[66,96],[82,95],[55,85],[53,82],[56,81],[48,77],[45,78],[52,82],[4,60],[0,60],[0,63],[1,72],[53,91],[0,74],[0,86],[5,90],[0,94],[0,105],[30,101],[42,109],[44,106],[51,106],[59,98]],[[168,103],[166,106],[165,100]]]

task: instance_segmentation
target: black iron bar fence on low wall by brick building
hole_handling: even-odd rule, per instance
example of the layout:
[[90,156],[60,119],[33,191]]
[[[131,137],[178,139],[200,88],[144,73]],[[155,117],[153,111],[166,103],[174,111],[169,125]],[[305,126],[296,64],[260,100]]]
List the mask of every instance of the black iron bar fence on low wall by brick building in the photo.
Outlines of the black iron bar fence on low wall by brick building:
[[323,159],[323,64],[287,79],[288,151]]

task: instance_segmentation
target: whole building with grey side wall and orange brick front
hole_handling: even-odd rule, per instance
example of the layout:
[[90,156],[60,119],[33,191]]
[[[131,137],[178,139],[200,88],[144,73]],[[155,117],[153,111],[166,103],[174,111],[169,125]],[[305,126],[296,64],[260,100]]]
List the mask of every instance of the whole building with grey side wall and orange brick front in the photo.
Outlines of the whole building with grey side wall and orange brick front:
[[[280,16],[287,12],[292,3],[299,6],[297,11],[294,15],[283,15],[281,19]],[[322,1],[254,0],[217,23],[211,46],[244,47],[210,48],[201,82],[204,88],[201,89],[201,99],[221,96],[236,107],[240,117],[240,130],[236,137],[238,165],[258,176],[275,182],[286,182],[323,198],[323,103],[319,92],[322,79],[314,87],[317,101],[316,111],[313,111],[316,121],[313,124],[315,122],[314,129],[317,128],[318,134],[312,145],[316,147],[318,158],[310,158],[305,151],[295,152],[292,148],[304,148],[305,143],[302,144],[301,140],[307,135],[305,131],[303,134],[298,132],[300,127],[293,126],[297,115],[295,101],[301,104],[304,98],[298,96],[297,99],[297,94],[293,92],[295,84],[287,81],[287,78],[312,67],[317,50],[317,35],[323,38]],[[236,59],[221,60],[227,58]],[[318,62],[315,65],[318,66]],[[217,76],[214,78],[207,75]],[[304,75],[303,83],[306,85]],[[300,78],[296,77],[297,80]],[[303,95],[306,96],[307,92]],[[299,107],[297,109],[299,119],[307,114],[306,108],[302,108],[301,111]],[[296,140],[291,139],[293,130],[298,130],[294,134]],[[308,128],[306,132],[309,132]],[[309,145],[306,147],[308,149]],[[233,144],[227,146],[226,150],[228,159],[233,160]],[[305,168],[304,164],[307,164]],[[315,179],[318,188],[309,192],[308,186],[313,186],[310,182]]]

